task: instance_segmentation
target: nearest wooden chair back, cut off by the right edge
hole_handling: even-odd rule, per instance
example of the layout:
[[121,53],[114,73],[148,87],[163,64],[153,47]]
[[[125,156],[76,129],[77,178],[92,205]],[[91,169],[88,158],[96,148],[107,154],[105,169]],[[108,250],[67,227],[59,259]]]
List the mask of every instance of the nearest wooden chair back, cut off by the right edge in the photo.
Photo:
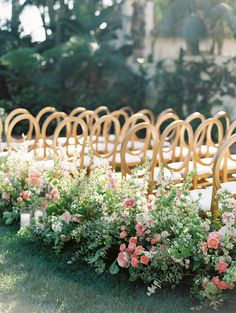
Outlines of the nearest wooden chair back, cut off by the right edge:
[[[228,137],[226,140],[222,142],[214,158],[213,189],[212,189],[212,199],[211,199],[211,212],[212,212],[213,223],[215,223],[218,218],[218,201],[217,201],[216,195],[217,195],[217,191],[221,187],[222,171],[227,171],[227,159],[230,154],[229,150],[235,144],[236,144],[236,134]],[[223,165],[223,168],[222,168],[222,165]],[[235,194],[236,194],[236,190],[235,190]]]

